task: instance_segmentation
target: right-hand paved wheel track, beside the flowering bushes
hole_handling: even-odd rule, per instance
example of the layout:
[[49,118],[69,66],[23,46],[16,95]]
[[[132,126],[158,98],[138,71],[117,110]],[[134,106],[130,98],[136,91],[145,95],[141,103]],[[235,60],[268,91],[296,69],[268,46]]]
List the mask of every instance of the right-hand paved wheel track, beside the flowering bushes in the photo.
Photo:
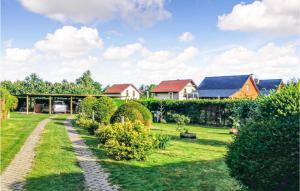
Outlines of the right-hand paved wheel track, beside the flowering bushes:
[[76,158],[83,170],[85,186],[90,191],[115,191],[119,190],[116,185],[110,185],[108,182],[109,173],[105,172],[92,151],[84,143],[84,140],[71,125],[71,118],[65,121],[69,138],[72,142]]

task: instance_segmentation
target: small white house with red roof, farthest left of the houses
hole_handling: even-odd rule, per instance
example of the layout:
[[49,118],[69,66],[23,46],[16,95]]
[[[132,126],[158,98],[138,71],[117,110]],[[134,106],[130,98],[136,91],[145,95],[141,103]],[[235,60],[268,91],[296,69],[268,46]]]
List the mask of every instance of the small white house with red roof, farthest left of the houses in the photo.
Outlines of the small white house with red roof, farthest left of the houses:
[[105,95],[121,99],[139,99],[141,92],[133,84],[114,84],[107,88]]

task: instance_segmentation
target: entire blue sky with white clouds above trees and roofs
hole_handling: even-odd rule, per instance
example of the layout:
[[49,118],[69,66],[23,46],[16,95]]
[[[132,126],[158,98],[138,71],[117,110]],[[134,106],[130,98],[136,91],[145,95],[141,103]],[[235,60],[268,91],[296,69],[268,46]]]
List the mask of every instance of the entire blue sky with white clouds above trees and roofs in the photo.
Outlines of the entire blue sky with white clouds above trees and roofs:
[[2,0],[0,80],[300,77],[298,0]]

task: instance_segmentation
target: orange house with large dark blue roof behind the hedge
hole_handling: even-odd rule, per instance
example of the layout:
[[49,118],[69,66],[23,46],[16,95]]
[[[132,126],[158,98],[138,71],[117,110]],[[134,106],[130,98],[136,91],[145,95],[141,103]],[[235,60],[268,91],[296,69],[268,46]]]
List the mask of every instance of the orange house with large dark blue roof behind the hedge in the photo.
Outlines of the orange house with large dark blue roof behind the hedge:
[[252,75],[206,77],[198,87],[200,98],[256,98],[259,95]]

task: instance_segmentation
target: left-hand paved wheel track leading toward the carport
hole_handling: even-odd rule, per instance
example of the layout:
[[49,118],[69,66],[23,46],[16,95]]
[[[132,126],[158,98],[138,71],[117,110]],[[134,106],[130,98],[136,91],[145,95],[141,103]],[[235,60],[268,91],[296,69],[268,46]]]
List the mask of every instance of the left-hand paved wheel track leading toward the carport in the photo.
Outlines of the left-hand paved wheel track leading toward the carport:
[[25,176],[31,169],[35,155],[35,146],[49,120],[50,119],[48,118],[39,122],[21,147],[20,151],[16,154],[15,158],[1,174],[1,191],[24,190]]

